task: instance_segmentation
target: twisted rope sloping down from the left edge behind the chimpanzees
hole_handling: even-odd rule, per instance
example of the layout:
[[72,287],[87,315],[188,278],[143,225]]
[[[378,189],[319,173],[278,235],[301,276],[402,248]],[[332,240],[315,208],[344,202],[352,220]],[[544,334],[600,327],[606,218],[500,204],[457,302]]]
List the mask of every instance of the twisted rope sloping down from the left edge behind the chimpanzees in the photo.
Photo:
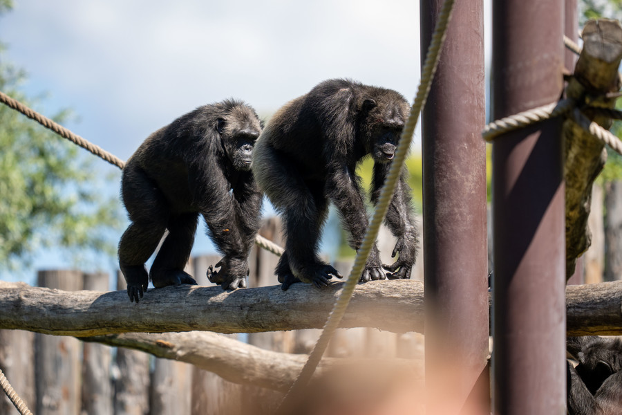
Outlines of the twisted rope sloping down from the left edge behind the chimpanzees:
[[[54,131],[59,136],[66,138],[67,140],[70,140],[75,145],[79,145],[83,149],[91,151],[91,153],[95,154],[95,156],[103,158],[108,163],[111,163],[111,165],[115,165],[119,167],[120,169],[123,169],[123,167],[125,167],[125,162],[121,160],[120,158],[118,158],[117,156],[114,156],[108,151],[102,149],[101,147],[94,145],[91,142],[88,142],[87,140],[85,140],[84,138],[80,136],[77,136],[76,134],[72,133],[71,131],[63,127],[62,125],[57,124],[53,120],[50,120],[50,118],[47,118],[46,116],[42,116],[41,114],[37,113],[37,111],[26,107],[26,105],[22,104],[21,102],[17,100],[14,100],[13,98],[10,98],[10,96],[6,95],[2,91],[0,91],[0,102],[2,102],[3,104],[6,104],[8,107],[12,109],[15,109],[23,113],[23,115],[27,116],[31,120],[35,120],[39,122],[39,124],[43,125],[47,129]],[[268,239],[265,239],[264,237],[261,237],[260,235],[257,235],[255,237],[255,243],[258,246],[261,246],[261,248],[264,248],[265,250],[272,252],[274,255],[281,256],[281,254],[283,254],[283,248],[276,245],[276,243]]]

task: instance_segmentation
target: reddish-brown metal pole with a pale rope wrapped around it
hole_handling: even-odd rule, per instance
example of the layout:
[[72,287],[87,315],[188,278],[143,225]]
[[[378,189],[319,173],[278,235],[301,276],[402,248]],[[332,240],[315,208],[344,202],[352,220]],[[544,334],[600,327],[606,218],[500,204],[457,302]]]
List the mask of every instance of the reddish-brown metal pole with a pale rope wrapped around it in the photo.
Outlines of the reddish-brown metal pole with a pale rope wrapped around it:
[[[563,0],[493,3],[493,118],[562,91]],[[493,144],[493,409],[565,414],[565,213],[561,121]]]

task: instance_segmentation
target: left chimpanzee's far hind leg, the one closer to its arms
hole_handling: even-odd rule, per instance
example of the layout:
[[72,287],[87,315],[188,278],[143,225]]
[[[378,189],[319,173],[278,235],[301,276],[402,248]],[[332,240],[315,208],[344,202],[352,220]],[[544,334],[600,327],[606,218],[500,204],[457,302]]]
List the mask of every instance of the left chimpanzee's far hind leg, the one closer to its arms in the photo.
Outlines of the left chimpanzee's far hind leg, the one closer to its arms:
[[169,234],[149,272],[151,282],[156,288],[180,284],[196,285],[194,278],[185,273],[184,268],[194,243],[197,221],[198,213],[174,215],[169,219]]

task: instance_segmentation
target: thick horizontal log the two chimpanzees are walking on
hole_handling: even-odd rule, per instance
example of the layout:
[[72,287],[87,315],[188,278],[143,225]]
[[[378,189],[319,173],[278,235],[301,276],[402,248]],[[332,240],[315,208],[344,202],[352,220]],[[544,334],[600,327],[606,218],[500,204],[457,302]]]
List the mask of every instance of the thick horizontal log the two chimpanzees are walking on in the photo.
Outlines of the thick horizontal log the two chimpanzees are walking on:
[[[222,291],[180,286],[149,290],[139,304],[124,291],[59,291],[0,282],[0,329],[93,335],[167,331],[258,333],[321,329],[342,284],[294,284]],[[377,281],[355,289],[343,327],[423,332],[423,284]],[[569,335],[622,335],[622,281],[566,288]]]

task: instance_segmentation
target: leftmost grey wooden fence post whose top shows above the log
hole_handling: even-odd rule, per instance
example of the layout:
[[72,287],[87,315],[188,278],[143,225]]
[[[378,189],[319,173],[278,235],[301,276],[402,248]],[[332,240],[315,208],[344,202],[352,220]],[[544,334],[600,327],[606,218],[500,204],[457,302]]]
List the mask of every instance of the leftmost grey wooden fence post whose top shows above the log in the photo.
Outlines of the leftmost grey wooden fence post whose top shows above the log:
[[[82,289],[82,272],[77,270],[39,271],[41,287],[64,291]],[[80,352],[76,338],[35,335],[35,378],[37,415],[77,415],[80,411]]]

